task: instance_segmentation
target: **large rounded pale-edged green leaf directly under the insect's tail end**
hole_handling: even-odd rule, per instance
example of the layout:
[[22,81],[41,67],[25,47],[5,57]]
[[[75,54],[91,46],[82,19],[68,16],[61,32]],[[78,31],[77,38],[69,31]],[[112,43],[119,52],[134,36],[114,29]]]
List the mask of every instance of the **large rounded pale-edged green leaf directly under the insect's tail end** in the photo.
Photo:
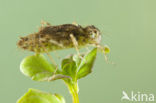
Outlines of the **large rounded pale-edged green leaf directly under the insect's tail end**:
[[56,66],[50,64],[43,55],[26,57],[20,64],[21,72],[35,81],[52,81],[65,78],[64,75],[53,76]]

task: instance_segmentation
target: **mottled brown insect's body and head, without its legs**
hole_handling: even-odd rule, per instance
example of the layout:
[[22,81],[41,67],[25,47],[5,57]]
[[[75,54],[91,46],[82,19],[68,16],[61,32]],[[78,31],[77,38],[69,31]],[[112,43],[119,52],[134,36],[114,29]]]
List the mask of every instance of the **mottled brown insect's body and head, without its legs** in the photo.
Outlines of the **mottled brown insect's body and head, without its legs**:
[[78,47],[98,44],[101,39],[99,29],[93,25],[84,28],[74,24],[47,25],[41,27],[37,33],[21,37],[17,45],[22,49],[39,53],[45,52],[45,49],[47,51],[54,51],[73,48],[74,44],[70,35],[73,35]]

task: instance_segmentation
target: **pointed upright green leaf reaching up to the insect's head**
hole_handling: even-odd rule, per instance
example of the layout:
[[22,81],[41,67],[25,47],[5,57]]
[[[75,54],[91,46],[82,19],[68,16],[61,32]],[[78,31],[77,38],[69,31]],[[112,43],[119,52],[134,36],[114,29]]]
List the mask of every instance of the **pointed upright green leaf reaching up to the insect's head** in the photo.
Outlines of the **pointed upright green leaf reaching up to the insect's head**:
[[79,65],[79,71],[77,74],[77,79],[87,76],[92,72],[92,67],[96,58],[97,48],[94,48],[88,54],[84,56],[84,59],[81,61]]

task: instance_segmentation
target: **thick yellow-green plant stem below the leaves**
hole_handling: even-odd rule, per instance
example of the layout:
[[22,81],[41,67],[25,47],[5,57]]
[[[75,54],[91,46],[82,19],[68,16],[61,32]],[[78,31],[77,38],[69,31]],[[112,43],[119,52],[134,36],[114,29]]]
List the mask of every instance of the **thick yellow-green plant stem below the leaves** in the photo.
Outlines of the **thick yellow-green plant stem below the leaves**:
[[69,92],[72,95],[73,103],[79,103],[79,96],[78,96],[78,84],[76,83],[69,83],[65,82],[68,86]]

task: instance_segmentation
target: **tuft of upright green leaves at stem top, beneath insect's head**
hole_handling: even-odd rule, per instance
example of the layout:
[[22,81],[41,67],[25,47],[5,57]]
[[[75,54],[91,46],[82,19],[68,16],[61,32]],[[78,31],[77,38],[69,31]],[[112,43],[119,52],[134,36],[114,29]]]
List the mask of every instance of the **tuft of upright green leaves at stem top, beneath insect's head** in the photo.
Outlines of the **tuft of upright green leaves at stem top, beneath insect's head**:
[[77,81],[77,79],[87,76],[92,71],[96,54],[97,48],[94,48],[86,55],[81,55],[83,59],[78,55],[64,59],[61,65],[62,74],[70,76],[73,81]]

